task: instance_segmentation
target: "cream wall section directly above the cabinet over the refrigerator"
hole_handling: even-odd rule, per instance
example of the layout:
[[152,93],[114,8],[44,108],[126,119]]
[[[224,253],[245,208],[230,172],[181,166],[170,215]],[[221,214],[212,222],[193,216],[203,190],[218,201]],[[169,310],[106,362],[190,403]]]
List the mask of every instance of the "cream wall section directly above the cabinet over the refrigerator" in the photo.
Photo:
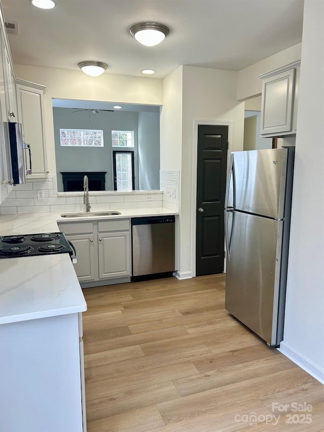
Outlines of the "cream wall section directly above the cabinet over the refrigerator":
[[[315,0],[318,1],[318,0]],[[259,75],[286,64],[300,60],[301,43],[267,57],[252,66],[237,72],[237,100],[244,100],[261,94],[262,82]]]

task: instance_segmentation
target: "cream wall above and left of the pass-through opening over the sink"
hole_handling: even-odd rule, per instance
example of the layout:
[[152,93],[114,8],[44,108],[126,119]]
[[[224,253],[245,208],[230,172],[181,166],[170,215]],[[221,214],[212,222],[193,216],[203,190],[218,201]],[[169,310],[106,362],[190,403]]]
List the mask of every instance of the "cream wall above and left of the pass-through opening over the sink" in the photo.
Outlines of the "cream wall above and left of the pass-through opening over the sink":
[[162,80],[103,73],[15,65],[17,78],[46,86],[44,96],[48,169],[56,173],[52,98],[161,105]]

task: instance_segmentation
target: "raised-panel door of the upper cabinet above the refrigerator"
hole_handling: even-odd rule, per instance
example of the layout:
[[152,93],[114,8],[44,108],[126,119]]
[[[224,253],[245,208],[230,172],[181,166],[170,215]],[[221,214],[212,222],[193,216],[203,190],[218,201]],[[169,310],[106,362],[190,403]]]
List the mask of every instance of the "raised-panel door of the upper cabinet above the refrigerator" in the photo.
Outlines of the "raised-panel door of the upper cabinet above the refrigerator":
[[265,78],[262,82],[261,134],[292,131],[295,69]]

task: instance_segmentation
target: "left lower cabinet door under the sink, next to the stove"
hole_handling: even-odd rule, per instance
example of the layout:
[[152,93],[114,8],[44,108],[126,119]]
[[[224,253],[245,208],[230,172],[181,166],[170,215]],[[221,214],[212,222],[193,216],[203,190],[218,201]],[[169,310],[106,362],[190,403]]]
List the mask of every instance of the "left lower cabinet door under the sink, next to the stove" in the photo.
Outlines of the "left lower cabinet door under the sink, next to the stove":
[[73,264],[80,282],[95,279],[93,234],[67,235],[77,253],[77,263]]

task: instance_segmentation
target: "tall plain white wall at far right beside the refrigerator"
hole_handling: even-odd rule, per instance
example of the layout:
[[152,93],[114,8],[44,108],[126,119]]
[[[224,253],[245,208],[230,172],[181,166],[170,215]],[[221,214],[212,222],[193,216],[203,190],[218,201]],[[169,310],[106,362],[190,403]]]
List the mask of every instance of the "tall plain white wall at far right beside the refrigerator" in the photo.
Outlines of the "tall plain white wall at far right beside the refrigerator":
[[305,0],[284,342],[324,383],[324,2]]

